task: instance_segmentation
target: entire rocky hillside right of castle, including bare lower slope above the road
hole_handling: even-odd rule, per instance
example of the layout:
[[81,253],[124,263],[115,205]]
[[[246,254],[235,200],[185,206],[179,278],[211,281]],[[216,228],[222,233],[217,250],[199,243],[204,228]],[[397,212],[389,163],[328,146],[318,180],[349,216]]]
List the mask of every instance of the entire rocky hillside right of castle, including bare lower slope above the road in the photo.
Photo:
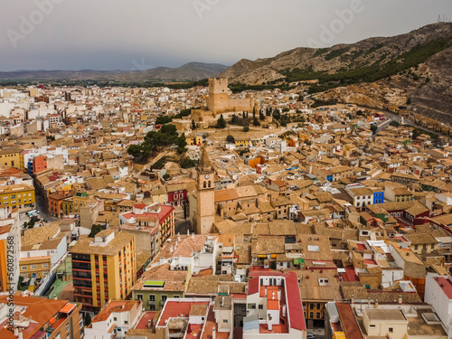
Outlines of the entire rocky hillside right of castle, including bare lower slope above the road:
[[452,125],[452,24],[430,24],[390,38],[242,60],[221,76],[249,85],[318,80],[309,88],[313,99],[381,109],[408,106]]

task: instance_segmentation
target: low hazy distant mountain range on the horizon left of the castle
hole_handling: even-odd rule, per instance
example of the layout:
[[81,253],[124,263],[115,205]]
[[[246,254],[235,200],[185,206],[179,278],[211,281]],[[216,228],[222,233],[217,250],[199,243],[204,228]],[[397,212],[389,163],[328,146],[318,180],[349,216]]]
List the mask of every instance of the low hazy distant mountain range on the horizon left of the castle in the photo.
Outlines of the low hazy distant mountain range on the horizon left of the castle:
[[4,71],[0,72],[0,80],[193,81],[215,77],[227,68],[219,63],[190,62],[178,68],[157,67],[143,71]]

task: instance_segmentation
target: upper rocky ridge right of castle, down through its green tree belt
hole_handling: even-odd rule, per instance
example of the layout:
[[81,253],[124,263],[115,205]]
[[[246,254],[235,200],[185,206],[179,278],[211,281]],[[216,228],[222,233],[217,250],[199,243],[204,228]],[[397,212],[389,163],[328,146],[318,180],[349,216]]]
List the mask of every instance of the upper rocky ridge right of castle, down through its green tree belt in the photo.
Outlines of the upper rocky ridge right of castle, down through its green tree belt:
[[[452,42],[452,24],[430,24],[419,30],[389,38],[370,38],[330,48],[297,48],[273,58],[242,59],[221,77],[231,83],[258,85],[286,80],[360,82],[391,76],[445,50]],[[380,73],[380,74],[377,74]]]

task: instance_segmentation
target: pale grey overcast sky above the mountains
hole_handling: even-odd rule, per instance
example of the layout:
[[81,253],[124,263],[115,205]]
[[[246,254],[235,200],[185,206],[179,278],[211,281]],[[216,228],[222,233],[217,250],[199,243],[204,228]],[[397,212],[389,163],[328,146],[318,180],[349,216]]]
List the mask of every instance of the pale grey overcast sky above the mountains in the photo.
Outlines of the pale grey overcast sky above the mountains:
[[452,19],[451,0],[4,1],[0,71],[231,65],[408,33],[438,15]]

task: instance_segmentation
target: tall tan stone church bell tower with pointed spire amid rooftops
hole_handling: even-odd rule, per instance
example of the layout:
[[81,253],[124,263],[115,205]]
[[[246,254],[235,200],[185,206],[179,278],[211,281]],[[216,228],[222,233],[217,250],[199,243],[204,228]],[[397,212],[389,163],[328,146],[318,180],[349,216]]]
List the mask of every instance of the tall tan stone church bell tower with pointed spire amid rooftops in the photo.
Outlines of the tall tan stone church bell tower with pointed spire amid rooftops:
[[214,172],[209,155],[204,146],[201,160],[196,167],[197,197],[196,197],[196,232],[207,234],[212,229],[215,218],[215,193],[214,193]]

